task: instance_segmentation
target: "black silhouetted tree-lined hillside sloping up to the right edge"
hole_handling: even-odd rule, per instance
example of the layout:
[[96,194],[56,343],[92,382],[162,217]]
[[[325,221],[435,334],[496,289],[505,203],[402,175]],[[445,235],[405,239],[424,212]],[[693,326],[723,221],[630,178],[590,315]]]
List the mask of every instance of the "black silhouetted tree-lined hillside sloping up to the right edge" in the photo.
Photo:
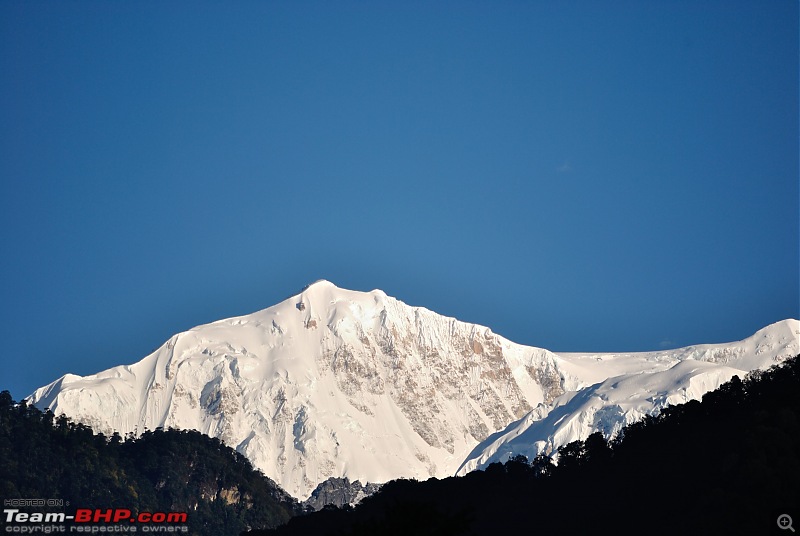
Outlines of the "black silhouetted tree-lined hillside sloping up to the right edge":
[[798,392],[794,357],[648,416],[611,444],[600,434],[572,442],[557,467],[518,457],[391,482],[355,509],[251,534],[769,534],[800,504]]

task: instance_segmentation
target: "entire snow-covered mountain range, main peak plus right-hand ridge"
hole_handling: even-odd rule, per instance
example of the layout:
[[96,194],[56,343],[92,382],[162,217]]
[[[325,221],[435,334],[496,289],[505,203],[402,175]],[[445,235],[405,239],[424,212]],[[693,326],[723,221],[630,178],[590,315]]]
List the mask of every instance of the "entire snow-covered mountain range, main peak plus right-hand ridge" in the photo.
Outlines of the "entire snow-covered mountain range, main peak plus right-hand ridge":
[[318,281],[177,334],[133,365],[67,374],[30,400],[104,433],[200,430],[303,499],[330,477],[444,477],[611,433],[796,354],[798,324],[740,343],[556,355],[379,290]]

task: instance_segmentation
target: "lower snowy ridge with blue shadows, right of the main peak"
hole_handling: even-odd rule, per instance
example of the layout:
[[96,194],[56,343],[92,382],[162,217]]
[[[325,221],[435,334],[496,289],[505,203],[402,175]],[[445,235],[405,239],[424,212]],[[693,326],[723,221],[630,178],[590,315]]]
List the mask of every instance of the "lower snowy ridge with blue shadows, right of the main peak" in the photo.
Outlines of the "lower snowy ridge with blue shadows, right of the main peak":
[[[560,357],[569,362],[562,368],[584,378],[604,371],[630,371],[566,392],[552,404],[534,408],[475,447],[457,474],[505,462],[517,454],[530,459],[542,453],[551,455],[558,447],[586,439],[596,431],[610,439],[623,426],[645,415],[699,400],[733,376],[744,377],[751,370],[783,362],[797,354],[798,335],[800,323],[784,320],[734,343],[627,355],[562,354]],[[639,370],[629,366],[640,359],[650,366],[642,364]]]

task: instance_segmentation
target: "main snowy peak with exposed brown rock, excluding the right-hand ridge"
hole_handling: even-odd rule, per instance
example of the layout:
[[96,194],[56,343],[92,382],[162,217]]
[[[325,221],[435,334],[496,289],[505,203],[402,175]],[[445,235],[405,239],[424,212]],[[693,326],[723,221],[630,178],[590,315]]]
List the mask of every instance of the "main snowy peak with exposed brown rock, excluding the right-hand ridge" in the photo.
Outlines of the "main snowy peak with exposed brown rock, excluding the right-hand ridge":
[[327,281],[175,335],[129,366],[66,375],[31,400],[104,432],[191,428],[297,497],[331,476],[445,476],[561,381],[555,356]]

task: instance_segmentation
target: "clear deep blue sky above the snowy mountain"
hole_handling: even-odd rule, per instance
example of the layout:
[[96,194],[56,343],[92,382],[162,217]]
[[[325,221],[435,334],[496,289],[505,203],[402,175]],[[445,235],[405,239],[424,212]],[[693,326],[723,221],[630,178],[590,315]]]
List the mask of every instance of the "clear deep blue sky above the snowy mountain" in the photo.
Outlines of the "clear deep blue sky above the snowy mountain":
[[798,4],[0,3],[0,388],[319,278],[556,351],[798,316]]

